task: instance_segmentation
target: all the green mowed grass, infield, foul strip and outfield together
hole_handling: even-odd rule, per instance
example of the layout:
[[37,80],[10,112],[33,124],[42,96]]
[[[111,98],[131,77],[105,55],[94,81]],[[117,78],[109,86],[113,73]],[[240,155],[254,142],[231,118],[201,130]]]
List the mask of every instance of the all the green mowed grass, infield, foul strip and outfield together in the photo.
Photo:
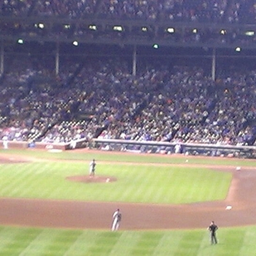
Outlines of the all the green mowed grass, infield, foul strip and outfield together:
[[[184,157],[143,156],[114,153],[48,153],[33,150],[0,151],[10,155],[24,154],[48,159],[0,165],[0,196],[46,199],[111,200],[190,203],[223,199],[231,182],[231,174],[208,170],[193,164],[255,166],[252,160],[189,158],[187,167],[155,166],[151,163],[185,163]],[[92,158],[98,161],[97,174],[116,176],[107,184],[83,184],[66,181],[66,176],[88,174]],[[54,159],[83,160],[80,162]],[[50,161],[49,161],[50,160]],[[119,163],[113,165],[112,161]],[[133,165],[122,162],[135,162]],[[136,163],[137,162],[137,163]],[[140,162],[149,163],[139,166]],[[216,184],[218,190],[216,190]],[[100,186],[101,193],[95,194]],[[112,194],[118,186],[126,193]],[[102,190],[104,193],[102,193]],[[134,193],[134,190],[137,193]],[[94,191],[94,193],[90,193]],[[140,193],[138,193],[138,191]],[[217,193],[217,194],[216,194]],[[139,194],[139,195],[138,195]],[[162,196],[164,195],[164,196]],[[1,209],[0,209],[1,210]],[[251,256],[256,255],[256,226],[222,228],[217,232],[218,245],[210,245],[208,231],[91,231],[40,229],[0,226],[0,255],[167,255],[167,256]]]

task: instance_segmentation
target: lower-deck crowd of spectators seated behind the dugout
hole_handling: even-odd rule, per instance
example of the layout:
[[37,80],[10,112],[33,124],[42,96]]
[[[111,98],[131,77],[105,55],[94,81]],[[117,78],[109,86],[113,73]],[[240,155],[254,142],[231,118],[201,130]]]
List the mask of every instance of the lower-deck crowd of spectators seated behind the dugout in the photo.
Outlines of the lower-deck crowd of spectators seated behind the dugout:
[[134,76],[125,60],[66,59],[57,77],[41,58],[10,65],[0,84],[1,139],[246,145],[256,138],[256,70],[237,66],[213,81],[199,64],[145,62]]

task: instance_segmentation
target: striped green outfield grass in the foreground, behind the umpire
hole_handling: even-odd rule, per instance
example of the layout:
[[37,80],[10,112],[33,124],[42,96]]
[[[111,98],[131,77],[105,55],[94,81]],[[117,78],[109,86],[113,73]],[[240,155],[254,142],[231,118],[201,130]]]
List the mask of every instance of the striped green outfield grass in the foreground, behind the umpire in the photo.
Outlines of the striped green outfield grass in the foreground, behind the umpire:
[[0,227],[0,255],[254,256],[256,227],[223,228],[218,245],[208,231],[73,231]]

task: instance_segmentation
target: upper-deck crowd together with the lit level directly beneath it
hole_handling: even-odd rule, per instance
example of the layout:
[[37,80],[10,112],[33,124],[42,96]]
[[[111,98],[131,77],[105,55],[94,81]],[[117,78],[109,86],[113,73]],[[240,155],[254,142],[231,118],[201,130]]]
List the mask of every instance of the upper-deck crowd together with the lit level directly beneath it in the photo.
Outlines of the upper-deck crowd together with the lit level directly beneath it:
[[[126,39],[134,39],[135,42],[140,39],[145,42],[159,39],[163,43],[186,46],[190,43],[194,46],[205,44],[210,47],[224,45],[232,48],[254,47],[255,44],[254,34],[245,34],[246,27],[235,26],[255,23],[254,0],[3,0],[0,2],[1,16],[28,18],[27,21],[8,19],[1,22],[0,33],[3,38],[12,36],[14,39],[21,37],[97,42],[106,39],[115,40],[116,43],[126,43]],[[42,22],[45,24],[30,22],[30,17],[43,17]],[[84,18],[89,18],[90,21],[91,17],[94,17],[93,23],[97,21],[94,28],[89,27],[91,24],[88,24],[88,20],[87,23],[81,22]],[[66,19],[66,24],[57,22],[58,18]],[[103,18],[103,24],[98,18]],[[145,21],[145,27],[125,23],[120,24],[121,30],[114,31],[113,20]],[[69,21],[73,23],[69,24]],[[178,23],[173,24],[173,31],[170,32],[168,23],[162,21]],[[184,28],[183,25],[178,25],[179,22],[195,24],[195,28],[190,25]],[[196,28],[198,23],[204,24],[203,27]],[[223,24],[223,30],[213,24]]]

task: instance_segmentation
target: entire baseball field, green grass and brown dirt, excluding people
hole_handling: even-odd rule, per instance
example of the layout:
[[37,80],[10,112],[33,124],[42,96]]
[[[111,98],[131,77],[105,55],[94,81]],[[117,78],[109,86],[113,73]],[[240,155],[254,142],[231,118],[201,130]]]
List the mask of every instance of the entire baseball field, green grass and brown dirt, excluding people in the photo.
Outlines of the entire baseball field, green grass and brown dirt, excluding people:
[[1,149],[0,167],[0,255],[256,255],[255,160]]

